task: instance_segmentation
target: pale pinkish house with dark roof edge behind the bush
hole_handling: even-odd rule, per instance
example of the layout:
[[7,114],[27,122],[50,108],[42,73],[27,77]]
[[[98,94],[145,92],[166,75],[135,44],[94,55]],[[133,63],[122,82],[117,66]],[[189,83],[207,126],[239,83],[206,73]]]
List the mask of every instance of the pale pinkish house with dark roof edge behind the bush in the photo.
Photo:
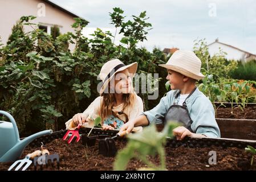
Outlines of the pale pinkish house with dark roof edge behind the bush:
[[[2,43],[6,44],[11,28],[21,16],[33,15],[37,18],[31,23],[39,24],[39,28],[51,33],[51,27],[58,26],[60,33],[74,32],[71,25],[78,15],[47,0],[8,0],[0,1],[0,36]],[[31,31],[30,26],[24,26],[25,32]],[[71,47],[72,49],[72,47]]]

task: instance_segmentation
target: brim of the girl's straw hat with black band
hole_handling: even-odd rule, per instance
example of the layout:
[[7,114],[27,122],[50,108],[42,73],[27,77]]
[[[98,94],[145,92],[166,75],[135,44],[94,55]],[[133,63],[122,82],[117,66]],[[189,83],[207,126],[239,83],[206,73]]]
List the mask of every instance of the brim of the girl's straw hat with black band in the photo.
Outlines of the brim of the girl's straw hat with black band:
[[104,84],[101,86],[100,89],[100,96],[102,96],[104,90],[107,88],[109,81],[116,75],[117,72],[121,72],[124,71],[125,69],[128,69],[129,73],[131,73],[131,78],[133,78],[135,76],[135,73],[137,72],[137,67],[138,67],[138,63],[132,63],[129,65],[126,65],[125,67],[121,67],[119,69],[117,69],[117,71],[115,73],[113,73],[113,75],[111,77],[108,78],[108,80],[106,80],[104,82]]

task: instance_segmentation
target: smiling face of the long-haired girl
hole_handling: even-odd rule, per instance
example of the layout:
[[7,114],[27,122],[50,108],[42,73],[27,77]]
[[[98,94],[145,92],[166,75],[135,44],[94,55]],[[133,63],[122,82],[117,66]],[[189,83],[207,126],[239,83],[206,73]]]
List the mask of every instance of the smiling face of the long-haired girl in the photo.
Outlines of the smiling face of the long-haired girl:
[[118,72],[115,75],[115,93],[131,93],[132,79],[128,69]]

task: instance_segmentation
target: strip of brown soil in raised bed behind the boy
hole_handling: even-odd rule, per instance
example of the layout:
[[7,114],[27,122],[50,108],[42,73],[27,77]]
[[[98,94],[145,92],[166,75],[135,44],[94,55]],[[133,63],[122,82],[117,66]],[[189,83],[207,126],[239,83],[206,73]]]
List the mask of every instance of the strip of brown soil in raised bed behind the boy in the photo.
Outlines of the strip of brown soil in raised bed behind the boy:
[[241,110],[240,107],[219,107],[216,112],[216,118],[230,118],[230,119],[256,119],[256,106],[246,106]]

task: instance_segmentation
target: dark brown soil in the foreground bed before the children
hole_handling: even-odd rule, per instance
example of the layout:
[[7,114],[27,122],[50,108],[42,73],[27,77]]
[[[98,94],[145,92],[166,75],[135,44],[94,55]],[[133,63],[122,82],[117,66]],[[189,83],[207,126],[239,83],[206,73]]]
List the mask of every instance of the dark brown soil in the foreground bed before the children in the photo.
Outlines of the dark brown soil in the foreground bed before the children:
[[[116,140],[116,147],[121,150],[125,147],[124,140]],[[51,154],[58,153],[60,158],[60,170],[113,170],[115,158],[104,157],[99,155],[98,142],[95,146],[86,148],[82,142],[72,142],[55,139],[45,145]],[[35,148],[27,147],[23,152],[22,158],[26,154],[33,152]],[[222,147],[205,147],[189,148],[165,147],[166,167],[168,170],[256,170],[256,159],[253,166],[250,166],[251,154],[240,148],[222,148]],[[217,164],[210,165],[209,152],[216,151]],[[148,157],[151,162],[159,164],[159,157]],[[0,163],[0,170],[7,170],[11,163]],[[132,159],[127,169],[137,170],[141,167],[147,167],[140,160]],[[33,163],[28,170],[34,170]],[[37,167],[40,170],[40,167]],[[56,162],[52,166],[43,166],[43,170],[58,170]]]

